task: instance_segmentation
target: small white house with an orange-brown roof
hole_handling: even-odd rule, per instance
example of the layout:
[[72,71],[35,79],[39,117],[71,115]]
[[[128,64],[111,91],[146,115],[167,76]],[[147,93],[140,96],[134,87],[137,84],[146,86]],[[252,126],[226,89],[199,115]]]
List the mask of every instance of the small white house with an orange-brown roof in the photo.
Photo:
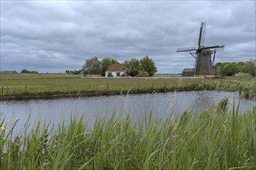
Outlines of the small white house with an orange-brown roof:
[[111,66],[108,67],[108,69],[105,72],[105,76],[113,76],[113,77],[117,77],[117,76],[122,76],[126,73],[125,68],[119,64],[119,63],[114,63]]

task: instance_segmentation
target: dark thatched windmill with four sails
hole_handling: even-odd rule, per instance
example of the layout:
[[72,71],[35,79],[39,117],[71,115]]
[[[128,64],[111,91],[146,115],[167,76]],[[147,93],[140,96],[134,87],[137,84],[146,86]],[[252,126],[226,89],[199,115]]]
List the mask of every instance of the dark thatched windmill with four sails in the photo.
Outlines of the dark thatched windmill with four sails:
[[[223,49],[225,46],[224,45],[203,46],[205,37],[206,37],[206,22],[201,22],[198,46],[178,48],[176,53],[189,52],[195,58],[195,69],[193,73],[194,76],[212,77],[216,75],[213,69],[215,56],[216,56],[216,49],[218,48]],[[212,54],[213,54],[213,61],[211,56]]]

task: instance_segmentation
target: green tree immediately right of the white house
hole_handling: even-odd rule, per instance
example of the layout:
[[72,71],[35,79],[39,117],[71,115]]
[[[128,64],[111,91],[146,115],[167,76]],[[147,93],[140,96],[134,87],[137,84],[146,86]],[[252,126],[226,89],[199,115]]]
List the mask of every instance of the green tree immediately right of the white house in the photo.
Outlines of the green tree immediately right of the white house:
[[123,66],[126,67],[127,73],[130,76],[136,76],[140,71],[140,60],[131,59],[130,61],[126,60],[123,63]]

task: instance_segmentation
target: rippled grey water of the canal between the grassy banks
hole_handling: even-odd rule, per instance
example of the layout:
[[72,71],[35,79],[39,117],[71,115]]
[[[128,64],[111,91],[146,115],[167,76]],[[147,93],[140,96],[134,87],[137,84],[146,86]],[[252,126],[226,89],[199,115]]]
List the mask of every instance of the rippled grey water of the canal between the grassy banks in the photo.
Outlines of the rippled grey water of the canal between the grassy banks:
[[252,108],[255,100],[239,99],[237,92],[189,91],[168,93],[129,94],[122,96],[60,98],[50,100],[10,100],[0,101],[0,114],[5,116],[5,124],[10,127],[16,120],[22,128],[30,115],[29,123],[33,126],[38,120],[60,123],[68,121],[71,114],[85,114],[85,121],[92,126],[97,115],[109,117],[113,111],[125,117],[130,113],[134,121],[148,117],[166,118],[169,114],[182,114],[190,109],[194,112],[209,108],[223,97],[230,97],[229,107],[233,100],[240,110]]

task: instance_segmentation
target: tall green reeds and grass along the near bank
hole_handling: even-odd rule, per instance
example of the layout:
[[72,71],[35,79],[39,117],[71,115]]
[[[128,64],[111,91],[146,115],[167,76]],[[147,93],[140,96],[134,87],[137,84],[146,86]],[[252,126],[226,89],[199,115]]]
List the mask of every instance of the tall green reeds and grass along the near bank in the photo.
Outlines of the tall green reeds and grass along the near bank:
[[[227,99],[200,113],[136,123],[130,116],[98,117],[90,128],[71,117],[55,128],[28,122],[0,132],[1,169],[255,169],[256,105],[227,111]],[[1,126],[5,119],[1,117]]]

